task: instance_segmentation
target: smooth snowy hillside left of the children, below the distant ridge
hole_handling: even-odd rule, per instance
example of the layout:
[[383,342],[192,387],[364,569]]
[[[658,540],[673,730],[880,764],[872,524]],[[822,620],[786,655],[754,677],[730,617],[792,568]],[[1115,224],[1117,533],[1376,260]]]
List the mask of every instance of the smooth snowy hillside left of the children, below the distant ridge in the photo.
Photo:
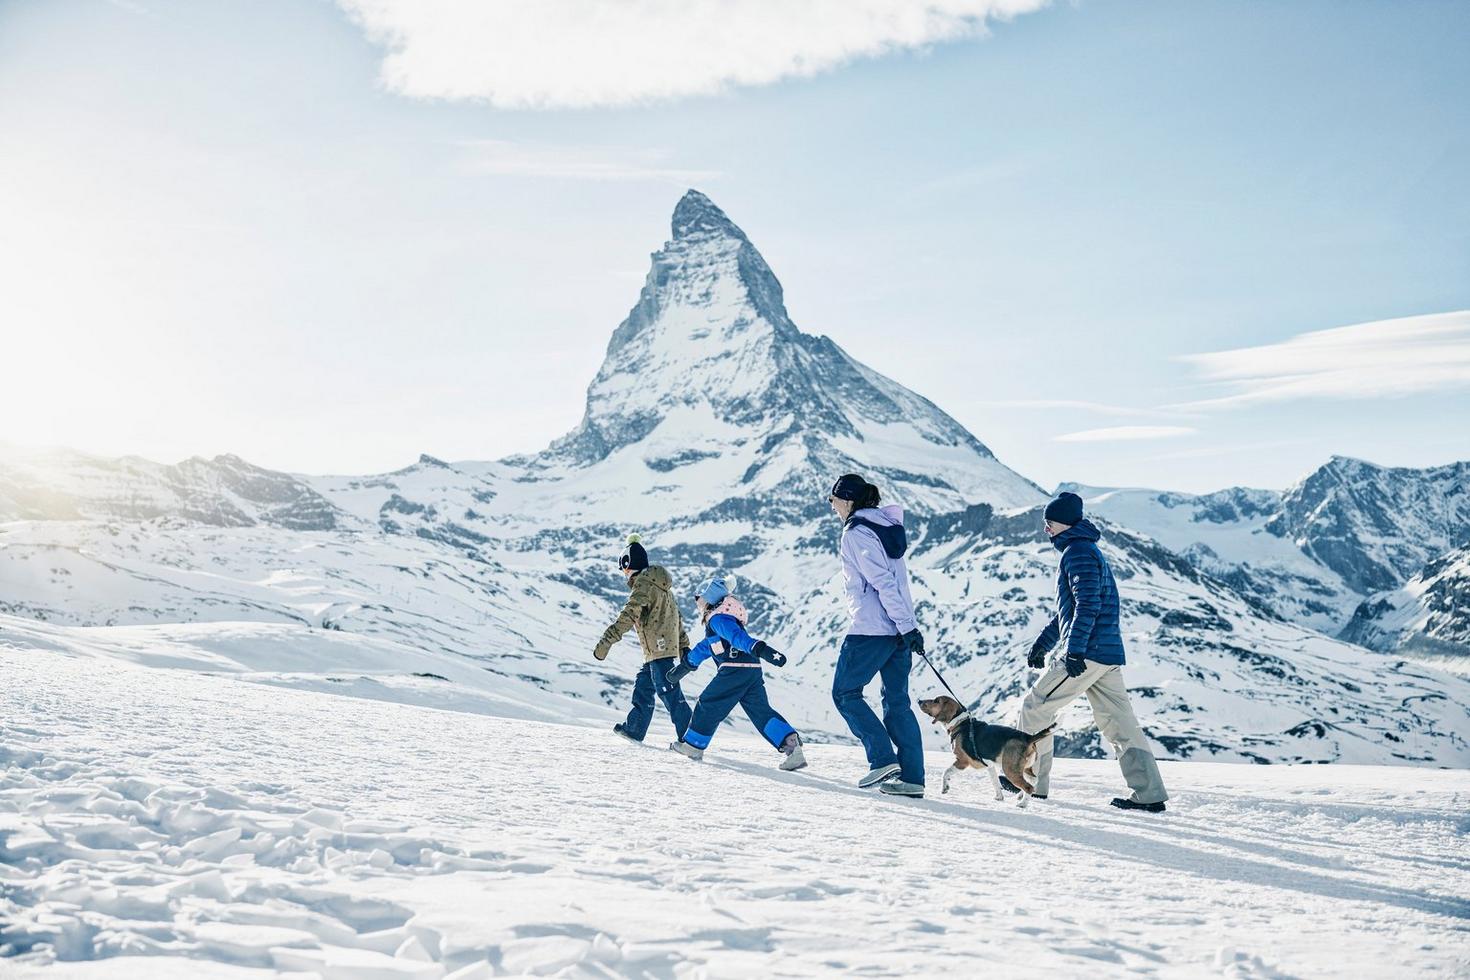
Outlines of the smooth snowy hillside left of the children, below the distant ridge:
[[[87,626],[97,642],[110,636],[104,626],[150,626],[163,633],[143,635],[188,635],[209,646],[213,629],[232,649],[279,648],[282,663],[300,658],[294,673],[369,677],[370,689],[382,670],[345,657],[353,644],[379,651],[375,663],[400,658],[403,674],[423,657],[450,657],[485,683],[463,691],[462,674],[426,667],[448,677],[445,695],[494,689],[548,702],[534,717],[564,717],[563,698],[623,704],[632,685],[622,671],[572,655],[600,632],[578,617],[588,598],[579,589],[416,535],[16,523],[0,526],[0,595],[10,597],[0,611]],[[13,627],[0,616],[6,621]]]

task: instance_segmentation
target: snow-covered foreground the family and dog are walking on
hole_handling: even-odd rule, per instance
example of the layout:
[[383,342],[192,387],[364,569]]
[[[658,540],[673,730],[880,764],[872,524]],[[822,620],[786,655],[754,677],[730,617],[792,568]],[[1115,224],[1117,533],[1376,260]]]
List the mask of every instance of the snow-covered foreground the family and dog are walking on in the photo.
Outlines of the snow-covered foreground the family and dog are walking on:
[[1029,810],[897,801],[851,746],[788,774],[722,730],[697,764],[663,716],[635,746],[9,636],[7,977],[1470,971],[1463,770],[1166,763],[1169,813],[1129,815],[1063,760]]

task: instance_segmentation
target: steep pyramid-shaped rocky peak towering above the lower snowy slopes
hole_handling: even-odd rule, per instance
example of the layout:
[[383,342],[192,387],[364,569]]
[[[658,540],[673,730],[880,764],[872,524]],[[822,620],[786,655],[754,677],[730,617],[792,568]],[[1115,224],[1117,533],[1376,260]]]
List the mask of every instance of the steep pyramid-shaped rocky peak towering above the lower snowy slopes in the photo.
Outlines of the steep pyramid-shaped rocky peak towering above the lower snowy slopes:
[[801,332],[756,245],[692,190],[613,332],[582,423],[539,463],[598,466],[635,445],[654,473],[748,457],[738,482],[784,505],[804,507],[853,469],[908,485],[928,511],[1042,500],[931,401]]

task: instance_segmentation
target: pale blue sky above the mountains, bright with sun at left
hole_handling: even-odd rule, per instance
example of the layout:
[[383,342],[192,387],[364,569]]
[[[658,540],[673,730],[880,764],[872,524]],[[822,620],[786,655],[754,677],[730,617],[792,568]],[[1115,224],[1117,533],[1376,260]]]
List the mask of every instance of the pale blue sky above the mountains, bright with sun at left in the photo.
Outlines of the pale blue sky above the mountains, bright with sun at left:
[[1467,46],[1467,3],[1080,0],[713,96],[629,82],[607,38],[578,85],[666,98],[498,109],[514,66],[422,97],[456,62],[385,82],[325,0],[0,0],[0,441],[310,472],[541,448],[697,185],[803,329],[1045,486],[1470,458],[1463,319],[1329,335],[1304,385],[1261,381],[1274,350],[1180,360],[1470,309]]

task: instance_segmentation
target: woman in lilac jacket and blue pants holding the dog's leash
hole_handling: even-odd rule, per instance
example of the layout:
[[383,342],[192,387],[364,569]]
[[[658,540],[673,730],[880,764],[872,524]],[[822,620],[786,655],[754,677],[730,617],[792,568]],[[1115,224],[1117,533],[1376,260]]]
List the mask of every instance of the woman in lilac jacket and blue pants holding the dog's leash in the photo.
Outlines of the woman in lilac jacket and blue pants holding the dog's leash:
[[[908,702],[913,655],[923,652],[914,623],[904,552],[904,511],[879,508],[878,488],[856,473],[832,485],[828,502],[842,520],[842,577],[853,617],[832,677],[832,701],[863,742],[869,773],[858,786],[894,796],[923,796],[923,739]],[[883,718],[863,698],[882,679]]]

